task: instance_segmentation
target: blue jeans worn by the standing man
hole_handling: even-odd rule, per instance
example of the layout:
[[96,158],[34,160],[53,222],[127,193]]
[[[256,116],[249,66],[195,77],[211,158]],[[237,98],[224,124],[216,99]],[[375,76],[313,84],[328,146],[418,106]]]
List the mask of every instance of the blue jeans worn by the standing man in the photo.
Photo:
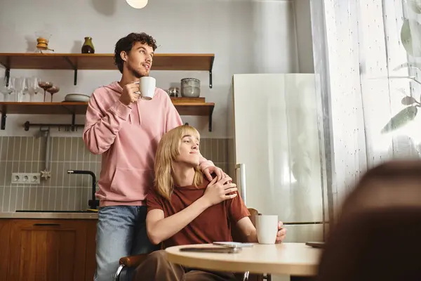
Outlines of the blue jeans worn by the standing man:
[[146,206],[102,207],[98,211],[95,281],[112,281],[119,259],[145,254],[158,246],[146,233]]

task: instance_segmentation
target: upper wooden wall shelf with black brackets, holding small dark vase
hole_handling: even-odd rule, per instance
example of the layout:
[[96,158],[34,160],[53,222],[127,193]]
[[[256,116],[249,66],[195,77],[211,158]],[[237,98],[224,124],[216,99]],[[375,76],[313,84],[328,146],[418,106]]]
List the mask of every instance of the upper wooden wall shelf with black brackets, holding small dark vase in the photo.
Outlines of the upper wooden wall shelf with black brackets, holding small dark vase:
[[[215,54],[156,53],[152,70],[196,70],[209,72],[212,88],[212,68]],[[109,53],[0,53],[0,65],[11,69],[74,70],[74,84],[78,70],[117,70],[114,55]]]

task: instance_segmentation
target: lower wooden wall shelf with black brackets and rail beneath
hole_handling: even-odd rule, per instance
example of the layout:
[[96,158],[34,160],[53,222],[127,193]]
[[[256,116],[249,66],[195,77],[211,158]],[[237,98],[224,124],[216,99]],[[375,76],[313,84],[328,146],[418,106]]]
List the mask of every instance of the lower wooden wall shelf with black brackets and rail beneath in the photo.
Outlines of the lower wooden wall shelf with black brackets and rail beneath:
[[[177,98],[172,99],[175,108],[182,116],[208,116],[209,131],[212,131],[212,115],[215,103],[204,102],[178,102]],[[1,126],[0,129],[6,129],[6,117],[8,114],[25,115],[72,115],[72,124],[31,124],[25,122],[25,131],[30,126],[58,126],[65,127],[74,131],[75,128],[84,126],[75,123],[76,115],[85,115],[88,103],[12,103],[0,102]]]

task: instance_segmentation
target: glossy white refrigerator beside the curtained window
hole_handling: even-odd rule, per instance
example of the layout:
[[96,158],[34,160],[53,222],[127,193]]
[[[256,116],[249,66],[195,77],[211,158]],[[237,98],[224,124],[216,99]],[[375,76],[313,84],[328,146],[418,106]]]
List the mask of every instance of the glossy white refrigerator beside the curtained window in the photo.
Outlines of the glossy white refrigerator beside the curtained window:
[[232,83],[241,197],[248,208],[278,215],[286,242],[323,241],[326,169],[315,75],[234,74]]

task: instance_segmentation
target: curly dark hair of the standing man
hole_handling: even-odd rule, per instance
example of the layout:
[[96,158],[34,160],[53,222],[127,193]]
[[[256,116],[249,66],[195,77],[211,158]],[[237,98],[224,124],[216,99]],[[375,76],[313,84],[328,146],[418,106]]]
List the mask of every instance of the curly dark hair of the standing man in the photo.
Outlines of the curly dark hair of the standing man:
[[116,47],[114,48],[114,63],[117,67],[119,67],[119,70],[121,73],[123,73],[123,59],[121,59],[120,53],[122,51],[125,51],[128,53],[131,51],[131,48],[133,45],[137,42],[140,42],[142,44],[146,44],[147,46],[151,46],[154,51],[156,50],[156,41],[154,37],[146,34],[145,32],[142,33],[131,33],[128,34],[126,37],[121,38],[116,43]]

